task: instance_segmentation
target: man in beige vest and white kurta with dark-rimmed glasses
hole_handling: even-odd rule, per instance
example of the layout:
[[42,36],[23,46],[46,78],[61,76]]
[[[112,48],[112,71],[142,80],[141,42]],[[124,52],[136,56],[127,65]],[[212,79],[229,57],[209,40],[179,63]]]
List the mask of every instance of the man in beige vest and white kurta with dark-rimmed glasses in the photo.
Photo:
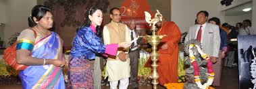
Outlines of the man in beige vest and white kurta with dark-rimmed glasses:
[[[125,24],[120,23],[120,9],[110,9],[111,22],[103,28],[103,40],[105,44],[121,43],[131,41],[129,29]],[[120,55],[125,53],[126,61],[120,60]],[[122,54],[120,54],[122,53]],[[105,76],[109,76],[109,85],[111,89],[116,89],[120,81],[119,89],[126,89],[130,78],[130,59],[128,52],[124,49],[118,49],[117,56],[108,56]]]

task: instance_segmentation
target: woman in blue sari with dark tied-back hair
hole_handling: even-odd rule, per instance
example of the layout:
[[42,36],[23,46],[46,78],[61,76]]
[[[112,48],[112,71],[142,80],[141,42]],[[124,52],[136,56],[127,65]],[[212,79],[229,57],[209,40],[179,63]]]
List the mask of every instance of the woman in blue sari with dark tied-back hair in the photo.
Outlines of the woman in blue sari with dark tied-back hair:
[[22,31],[17,39],[16,60],[28,65],[20,71],[24,89],[55,88],[65,89],[61,68],[68,62],[62,58],[63,41],[53,27],[53,15],[48,7],[36,5],[28,17],[30,29]]

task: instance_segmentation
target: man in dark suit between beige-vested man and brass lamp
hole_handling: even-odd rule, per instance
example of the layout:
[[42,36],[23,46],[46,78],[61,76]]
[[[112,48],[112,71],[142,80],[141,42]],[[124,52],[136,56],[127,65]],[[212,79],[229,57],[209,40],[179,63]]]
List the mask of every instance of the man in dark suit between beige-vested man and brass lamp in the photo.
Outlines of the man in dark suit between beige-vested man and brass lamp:
[[[136,21],[134,19],[131,19],[128,27],[130,29],[131,39],[136,39],[136,37],[138,37],[138,34],[135,33],[135,31],[134,31],[135,27],[136,27]],[[130,51],[129,51],[130,86],[134,89],[138,88],[137,77],[138,77],[138,58],[140,58],[140,55],[139,55],[140,44],[142,44],[141,39],[134,41],[134,43],[132,43],[132,45],[130,46]]]

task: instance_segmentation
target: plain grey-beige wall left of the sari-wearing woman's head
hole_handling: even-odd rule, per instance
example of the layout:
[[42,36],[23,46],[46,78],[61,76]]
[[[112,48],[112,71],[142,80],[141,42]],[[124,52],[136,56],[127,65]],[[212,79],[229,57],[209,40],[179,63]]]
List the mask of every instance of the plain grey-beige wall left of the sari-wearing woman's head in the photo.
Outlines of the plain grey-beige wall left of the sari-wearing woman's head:
[[7,0],[5,3],[5,27],[3,28],[5,46],[12,34],[28,28],[28,16],[36,0]]

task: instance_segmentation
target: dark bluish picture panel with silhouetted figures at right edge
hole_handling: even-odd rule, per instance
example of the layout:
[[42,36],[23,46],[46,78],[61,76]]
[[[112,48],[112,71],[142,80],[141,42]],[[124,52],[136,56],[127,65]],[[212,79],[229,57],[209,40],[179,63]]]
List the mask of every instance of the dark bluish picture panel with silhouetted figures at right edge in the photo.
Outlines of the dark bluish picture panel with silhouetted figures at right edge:
[[239,88],[256,88],[256,35],[238,36]]

